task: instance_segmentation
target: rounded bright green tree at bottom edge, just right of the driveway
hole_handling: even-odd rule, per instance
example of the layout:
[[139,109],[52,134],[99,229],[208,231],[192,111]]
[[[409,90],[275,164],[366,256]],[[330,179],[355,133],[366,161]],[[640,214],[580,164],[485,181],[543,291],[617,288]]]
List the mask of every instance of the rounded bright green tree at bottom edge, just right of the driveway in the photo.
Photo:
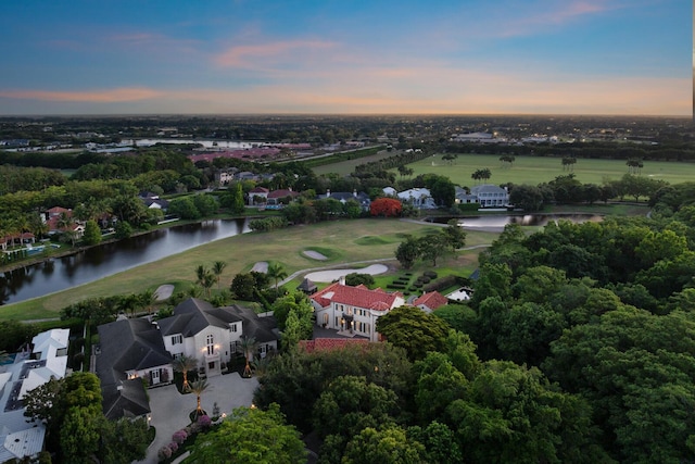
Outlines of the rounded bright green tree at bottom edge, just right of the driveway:
[[286,425],[277,404],[267,411],[238,407],[214,431],[200,434],[188,459],[192,463],[254,462],[303,464],[304,443]]

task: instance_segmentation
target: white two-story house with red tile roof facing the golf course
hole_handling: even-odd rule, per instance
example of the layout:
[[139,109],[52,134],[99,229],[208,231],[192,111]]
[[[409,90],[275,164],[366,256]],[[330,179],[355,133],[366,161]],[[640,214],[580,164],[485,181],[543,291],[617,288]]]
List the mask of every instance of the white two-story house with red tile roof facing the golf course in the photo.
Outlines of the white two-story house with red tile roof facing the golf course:
[[344,278],[309,297],[316,313],[316,324],[337,329],[344,335],[362,336],[379,341],[377,321],[394,308],[405,304],[403,294],[364,285],[351,287]]

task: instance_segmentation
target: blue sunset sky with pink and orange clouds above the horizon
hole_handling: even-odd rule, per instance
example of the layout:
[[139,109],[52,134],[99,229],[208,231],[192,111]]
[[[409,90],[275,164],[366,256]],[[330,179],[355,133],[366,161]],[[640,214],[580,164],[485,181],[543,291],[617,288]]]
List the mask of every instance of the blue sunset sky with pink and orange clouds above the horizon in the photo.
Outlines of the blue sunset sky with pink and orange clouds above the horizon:
[[0,115],[693,114],[686,0],[3,0]]

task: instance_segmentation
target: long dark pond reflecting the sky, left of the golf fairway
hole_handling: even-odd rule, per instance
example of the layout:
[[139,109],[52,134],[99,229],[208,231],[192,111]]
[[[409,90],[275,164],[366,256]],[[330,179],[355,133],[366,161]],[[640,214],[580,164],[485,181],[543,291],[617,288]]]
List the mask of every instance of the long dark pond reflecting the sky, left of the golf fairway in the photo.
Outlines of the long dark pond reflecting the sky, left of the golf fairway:
[[0,304],[41,297],[249,231],[249,220],[205,221],[131,237],[0,275]]

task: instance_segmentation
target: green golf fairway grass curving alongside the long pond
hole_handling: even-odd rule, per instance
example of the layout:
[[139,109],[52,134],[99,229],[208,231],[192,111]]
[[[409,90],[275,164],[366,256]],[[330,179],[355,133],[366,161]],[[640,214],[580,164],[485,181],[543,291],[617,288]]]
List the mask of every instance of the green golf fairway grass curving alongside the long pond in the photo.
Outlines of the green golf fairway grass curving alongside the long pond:
[[[222,287],[227,288],[235,275],[249,272],[260,261],[279,263],[288,274],[292,274],[312,267],[393,258],[406,234],[420,236],[434,227],[438,226],[371,218],[244,234],[200,246],[94,283],[3,305],[0,308],[0,318],[26,321],[55,317],[62,308],[79,300],[154,290],[163,284],[174,284],[176,290],[181,290],[194,281],[198,265],[212,266],[215,261],[227,262],[220,280]],[[471,231],[468,233],[466,244],[491,243],[496,236],[493,233]],[[318,251],[329,259],[311,259],[303,253],[306,250]],[[291,285],[288,287],[292,288]]]

